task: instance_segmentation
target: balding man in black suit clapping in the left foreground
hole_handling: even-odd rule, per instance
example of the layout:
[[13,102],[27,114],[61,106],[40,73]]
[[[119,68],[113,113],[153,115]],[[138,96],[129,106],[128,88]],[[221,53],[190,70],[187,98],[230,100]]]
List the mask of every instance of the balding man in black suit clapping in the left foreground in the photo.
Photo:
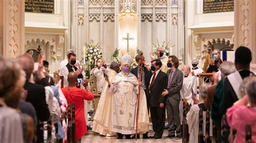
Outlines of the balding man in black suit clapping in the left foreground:
[[[28,90],[28,95],[26,96],[26,102],[30,102],[34,106],[38,120],[48,121],[50,117],[50,111],[48,109],[48,104],[46,104],[46,100],[45,100],[45,89],[42,85],[29,82],[30,76],[34,68],[34,62],[32,57],[30,55],[21,55],[16,58],[16,61],[19,63],[19,65],[21,65],[22,69],[26,73],[26,82],[23,87],[25,90]],[[42,75],[42,74],[43,73],[39,75]],[[39,121],[37,124],[36,132],[37,132],[37,142],[43,142],[44,141],[43,131],[40,129]]]

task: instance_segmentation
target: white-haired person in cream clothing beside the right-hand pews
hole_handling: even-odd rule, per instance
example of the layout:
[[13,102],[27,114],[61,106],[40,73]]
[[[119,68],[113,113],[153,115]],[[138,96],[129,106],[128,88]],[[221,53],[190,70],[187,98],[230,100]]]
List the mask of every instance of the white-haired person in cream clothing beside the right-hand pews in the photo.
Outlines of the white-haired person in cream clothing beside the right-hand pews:
[[[199,89],[199,96],[201,101],[198,104],[191,106],[190,111],[187,113],[187,124],[188,124],[188,133],[190,133],[189,142],[198,142],[198,130],[199,130],[199,111],[200,108],[203,111],[207,111],[207,108],[204,105],[204,99],[207,96],[207,89],[210,87],[210,84],[204,83]],[[204,116],[205,118],[205,116]]]

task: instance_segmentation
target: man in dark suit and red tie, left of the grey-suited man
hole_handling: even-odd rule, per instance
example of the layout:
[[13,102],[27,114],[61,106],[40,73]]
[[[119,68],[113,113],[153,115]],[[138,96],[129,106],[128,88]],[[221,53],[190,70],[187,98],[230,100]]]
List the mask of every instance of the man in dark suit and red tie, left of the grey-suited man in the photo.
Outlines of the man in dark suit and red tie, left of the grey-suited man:
[[161,139],[165,125],[165,100],[166,97],[161,95],[167,88],[167,75],[160,70],[162,63],[156,59],[151,61],[151,70],[153,75],[150,79],[150,113],[155,134],[151,137]]

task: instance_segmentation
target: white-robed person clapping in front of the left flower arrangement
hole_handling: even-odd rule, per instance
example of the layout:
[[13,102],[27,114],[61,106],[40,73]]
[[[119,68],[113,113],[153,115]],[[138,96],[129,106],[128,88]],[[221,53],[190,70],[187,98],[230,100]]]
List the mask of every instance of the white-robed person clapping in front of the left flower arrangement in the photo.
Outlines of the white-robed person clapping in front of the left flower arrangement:
[[98,94],[102,93],[102,88],[105,83],[104,74],[107,75],[109,68],[106,66],[105,60],[100,58],[97,60],[97,67],[93,71],[93,75],[96,77],[96,85]]

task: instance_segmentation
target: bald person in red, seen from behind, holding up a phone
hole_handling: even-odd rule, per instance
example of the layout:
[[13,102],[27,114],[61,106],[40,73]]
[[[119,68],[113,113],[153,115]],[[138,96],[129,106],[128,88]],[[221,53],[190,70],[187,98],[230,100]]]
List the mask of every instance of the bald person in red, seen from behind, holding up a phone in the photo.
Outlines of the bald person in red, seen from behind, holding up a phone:
[[76,140],[77,142],[80,142],[83,135],[87,133],[84,116],[84,100],[91,101],[94,98],[94,95],[88,88],[88,82],[86,80],[82,81],[85,90],[76,87],[77,74],[75,72],[70,72],[68,74],[68,82],[68,87],[62,88],[62,92],[68,104],[75,102]]

